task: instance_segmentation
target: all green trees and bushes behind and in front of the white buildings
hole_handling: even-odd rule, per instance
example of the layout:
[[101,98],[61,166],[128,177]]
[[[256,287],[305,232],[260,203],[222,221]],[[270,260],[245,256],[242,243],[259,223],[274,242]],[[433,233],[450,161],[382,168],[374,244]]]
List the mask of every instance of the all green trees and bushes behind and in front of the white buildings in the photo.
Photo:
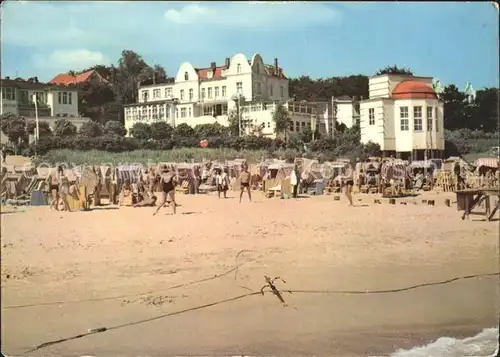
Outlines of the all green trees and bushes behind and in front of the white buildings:
[[[136,123],[130,130],[133,138],[126,138],[123,105],[137,102],[137,89],[140,85],[167,83],[171,82],[172,78],[167,76],[163,67],[150,66],[140,55],[130,50],[122,52],[116,66],[96,65],[80,72],[71,72],[78,74],[89,70],[96,70],[106,79],[106,82],[90,81],[78,84],[80,112],[89,117],[91,122],[84,124],[78,132],[66,119],[58,120],[53,132],[48,125],[40,123],[40,141],[37,145],[39,153],[57,148],[121,151],[136,148],[194,147],[199,146],[199,141],[205,139],[208,140],[209,147],[324,149],[336,151],[339,155],[360,145],[359,128],[347,129],[340,126],[337,128],[339,135],[334,140],[321,138],[319,133],[316,133],[316,140],[311,142],[310,129],[290,135],[290,117],[281,107],[273,114],[276,132],[281,139],[271,140],[263,137],[262,128],[259,127],[251,128],[250,135],[238,138],[239,108],[229,113],[229,127],[207,124],[191,128],[181,124],[172,128],[167,123]],[[383,68],[376,74],[383,73],[413,74],[411,69],[397,65]],[[291,78],[289,85],[290,96],[297,101],[328,101],[332,95],[368,98],[368,76],[361,74],[319,79],[301,76]],[[498,140],[494,134],[498,130],[497,88],[479,90],[475,99],[470,101],[457,86],[448,85],[440,96],[444,101],[444,125],[450,153],[477,152],[486,145],[486,141],[491,144],[492,140]],[[34,151],[33,145],[28,143],[29,135],[34,132],[33,122],[6,114],[2,118],[1,130],[9,137],[16,151]],[[352,135],[346,137],[344,133]],[[345,145],[343,141],[346,142]],[[479,141],[481,145],[477,144]],[[378,150],[371,144],[368,147],[374,152]]]

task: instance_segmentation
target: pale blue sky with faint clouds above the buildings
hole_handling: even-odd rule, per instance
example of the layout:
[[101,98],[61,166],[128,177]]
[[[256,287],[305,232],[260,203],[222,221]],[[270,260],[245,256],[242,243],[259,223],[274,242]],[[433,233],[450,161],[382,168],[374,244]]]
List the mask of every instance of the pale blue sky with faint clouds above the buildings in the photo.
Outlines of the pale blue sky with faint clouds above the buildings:
[[7,0],[1,76],[49,81],[124,49],[162,65],[278,58],[289,77],[411,68],[459,88],[498,86],[498,10],[490,2],[148,2]]

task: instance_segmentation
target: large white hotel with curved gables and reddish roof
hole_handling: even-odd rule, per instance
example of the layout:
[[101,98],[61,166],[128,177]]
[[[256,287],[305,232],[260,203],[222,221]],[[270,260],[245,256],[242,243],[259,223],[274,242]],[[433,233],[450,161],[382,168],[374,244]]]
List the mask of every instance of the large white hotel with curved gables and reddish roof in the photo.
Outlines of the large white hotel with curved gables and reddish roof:
[[[135,123],[166,121],[173,127],[186,123],[228,125],[228,111],[242,108],[246,133],[260,127],[264,136],[275,136],[272,116],[276,105],[284,105],[291,114],[291,134],[311,125],[318,115],[317,129],[326,132],[333,122],[329,103],[299,103],[289,98],[288,79],[278,65],[266,65],[259,54],[251,60],[236,54],[224,65],[212,62],[209,67],[195,68],[183,63],[171,84],[153,84],[138,89],[139,102],[125,106],[125,128]],[[328,130],[329,131],[329,130]]]

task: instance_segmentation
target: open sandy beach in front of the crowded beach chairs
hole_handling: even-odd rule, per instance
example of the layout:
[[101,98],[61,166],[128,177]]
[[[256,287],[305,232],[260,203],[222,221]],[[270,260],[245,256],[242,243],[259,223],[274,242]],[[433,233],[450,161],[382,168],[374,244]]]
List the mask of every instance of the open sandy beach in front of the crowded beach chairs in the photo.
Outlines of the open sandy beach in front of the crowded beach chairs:
[[[29,355],[389,355],[497,326],[499,277],[484,274],[499,271],[498,221],[428,195],[3,210],[2,352],[106,327]],[[285,280],[286,306],[266,292],[161,317],[259,292],[265,275]]]

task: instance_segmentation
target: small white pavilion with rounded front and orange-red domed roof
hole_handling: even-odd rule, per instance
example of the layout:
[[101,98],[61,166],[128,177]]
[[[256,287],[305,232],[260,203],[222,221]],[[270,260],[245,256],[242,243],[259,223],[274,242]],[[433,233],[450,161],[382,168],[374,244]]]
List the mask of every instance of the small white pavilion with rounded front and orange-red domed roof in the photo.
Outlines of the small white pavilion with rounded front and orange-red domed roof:
[[443,102],[432,77],[384,74],[369,79],[369,99],[360,102],[361,141],[402,159],[439,158],[444,153]]

